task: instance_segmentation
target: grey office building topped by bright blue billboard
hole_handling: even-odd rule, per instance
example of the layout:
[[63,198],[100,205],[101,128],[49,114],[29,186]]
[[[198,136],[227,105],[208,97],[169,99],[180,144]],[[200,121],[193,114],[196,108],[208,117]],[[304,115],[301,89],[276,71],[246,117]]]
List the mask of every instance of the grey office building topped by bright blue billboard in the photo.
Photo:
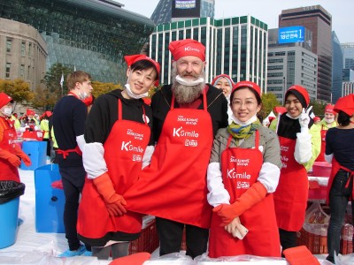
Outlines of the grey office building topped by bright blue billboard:
[[[300,31],[301,40],[298,38]],[[311,100],[317,98],[318,57],[311,51],[311,43],[312,32],[306,28],[284,27],[268,31],[266,92],[276,95],[281,104],[285,91],[293,85],[305,87]]]

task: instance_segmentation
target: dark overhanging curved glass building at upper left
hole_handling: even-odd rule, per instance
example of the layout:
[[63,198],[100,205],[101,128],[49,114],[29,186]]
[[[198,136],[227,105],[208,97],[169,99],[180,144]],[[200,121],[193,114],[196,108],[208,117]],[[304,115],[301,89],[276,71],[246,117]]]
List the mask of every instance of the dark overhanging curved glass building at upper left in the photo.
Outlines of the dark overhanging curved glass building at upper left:
[[112,0],[11,0],[0,2],[0,17],[38,30],[48,47],[47,69],[61,63],[122,83],[123,57],[140,53],[155,26],[122,6]]

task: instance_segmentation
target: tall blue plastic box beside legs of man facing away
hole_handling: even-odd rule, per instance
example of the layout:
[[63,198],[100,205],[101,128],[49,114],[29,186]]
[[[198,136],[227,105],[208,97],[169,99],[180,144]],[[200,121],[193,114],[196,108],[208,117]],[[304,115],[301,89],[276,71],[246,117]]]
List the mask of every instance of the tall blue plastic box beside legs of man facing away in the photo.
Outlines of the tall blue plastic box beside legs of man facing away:
[[64,233],[65,195],[51,184],[61,179],[58,164],[52,163],[35,170],[35,231]]

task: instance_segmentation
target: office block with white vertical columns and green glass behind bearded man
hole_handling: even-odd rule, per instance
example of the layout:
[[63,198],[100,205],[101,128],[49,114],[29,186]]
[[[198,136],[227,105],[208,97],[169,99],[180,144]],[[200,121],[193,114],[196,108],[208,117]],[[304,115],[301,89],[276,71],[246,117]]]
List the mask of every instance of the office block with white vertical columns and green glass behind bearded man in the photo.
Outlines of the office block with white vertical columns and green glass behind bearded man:
[[250,80],[266,88],[267,25],[250,15],[229,19],[188,19],[158,25],[150,35],[150,57],[161,69],[161,83],[171,81],[170,42],[194,39],[206,47],[207,81],[226,73],[234,81]]

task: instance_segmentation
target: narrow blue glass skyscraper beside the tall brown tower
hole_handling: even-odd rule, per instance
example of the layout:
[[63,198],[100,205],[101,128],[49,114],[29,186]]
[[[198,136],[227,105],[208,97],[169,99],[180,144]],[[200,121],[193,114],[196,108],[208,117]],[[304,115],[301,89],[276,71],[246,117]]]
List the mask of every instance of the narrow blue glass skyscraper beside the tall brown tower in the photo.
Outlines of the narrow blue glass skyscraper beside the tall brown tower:
[[341,42],[335,32],[332,32],[332,103],[335,104],[342,96],[343,55]]

